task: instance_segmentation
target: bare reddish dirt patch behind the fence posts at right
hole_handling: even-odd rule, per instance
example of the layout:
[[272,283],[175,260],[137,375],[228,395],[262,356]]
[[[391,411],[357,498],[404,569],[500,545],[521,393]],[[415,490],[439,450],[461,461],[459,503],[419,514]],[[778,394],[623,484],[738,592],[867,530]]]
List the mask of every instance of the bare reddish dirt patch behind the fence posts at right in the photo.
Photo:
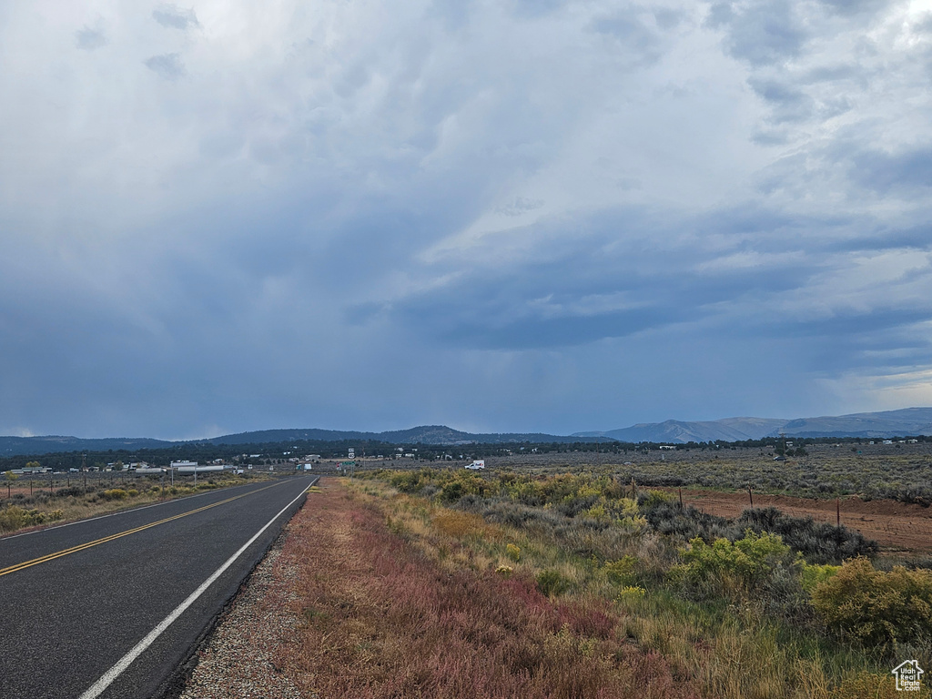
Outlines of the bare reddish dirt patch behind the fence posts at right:
[[[676,489],[665,488],[677,492]],[[747,510],[747,493],[683,489],[683,504],[708,514],[736,517]],[[754,494],[755,507],[775,507],[796,517],[835,523],[835,500]],[[877,541],[885,553],[932,553],[932,508],[897,500],[841,500],[842,524]]]

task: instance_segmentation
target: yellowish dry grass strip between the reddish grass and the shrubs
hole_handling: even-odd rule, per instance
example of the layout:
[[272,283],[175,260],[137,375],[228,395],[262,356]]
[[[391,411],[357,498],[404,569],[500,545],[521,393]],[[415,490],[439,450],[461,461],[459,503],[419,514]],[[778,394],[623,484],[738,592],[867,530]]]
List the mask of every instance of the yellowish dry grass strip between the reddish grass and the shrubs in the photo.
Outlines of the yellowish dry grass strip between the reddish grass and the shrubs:
[[[651,580],[669,569],[671,550],[647,530],[538,527],[533,519],[521,528],[483,524],[481,518],[469,518],[477,515],[401,495],[384,484],[352,487],[437,566],[479,574],[498,570],[500,577],[537,580],[557,606],[595,605],[613,620],[616,637],[627,637],[644,653],[660,653],[672,677],[688,680],[703,696],[835,699],[860,695],[860,687],[865,697],[883,697],[893,687],[892,676],[878,669],[875,659],[855,649],[824,646],[824,639],[770,619],[753,600],[724,610],[652,587]],[[438,521],[460,523],[457,536],[443,525],[432,526]],[[585,551],[600,551],[610,559],[635,557],[649,592],[629,586],[633,582],[621,582],[619,589],[595,556],[580,553]],[[927,688],[920,695],[928,696]]]

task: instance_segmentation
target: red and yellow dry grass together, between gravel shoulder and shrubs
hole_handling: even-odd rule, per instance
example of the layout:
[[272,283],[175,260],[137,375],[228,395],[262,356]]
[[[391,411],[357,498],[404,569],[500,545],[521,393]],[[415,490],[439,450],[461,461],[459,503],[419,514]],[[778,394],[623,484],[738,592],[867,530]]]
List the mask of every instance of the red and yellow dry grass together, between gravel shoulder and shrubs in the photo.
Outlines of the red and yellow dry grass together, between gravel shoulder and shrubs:
[[[646,531],[555,538],[336,480],[291,527],[301,624],[276,663],[307,696],[893,696],[863,655],[788,636],[753,601],[724,610],[652,588],[669,551]],[[611,581],[569,553],[594,543],[636,557],[647,578]]]

